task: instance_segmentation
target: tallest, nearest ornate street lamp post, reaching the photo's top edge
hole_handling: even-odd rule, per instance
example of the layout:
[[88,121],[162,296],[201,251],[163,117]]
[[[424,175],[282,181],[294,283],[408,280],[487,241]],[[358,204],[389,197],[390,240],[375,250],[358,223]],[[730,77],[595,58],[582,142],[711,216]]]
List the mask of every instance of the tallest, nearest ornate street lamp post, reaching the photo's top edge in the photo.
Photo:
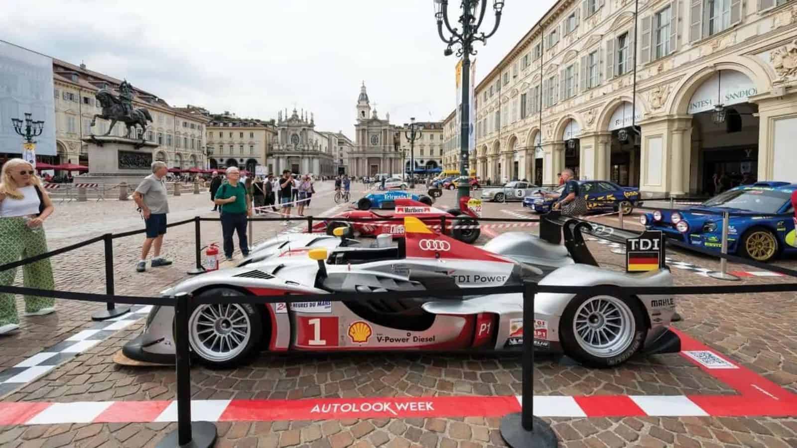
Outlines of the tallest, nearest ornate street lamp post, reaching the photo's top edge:
[[[470,143],[470,55],[475,56],[476,50],[473,49],[474,41],[481,41],[482,44],[487,43],[487,39],[495,34],[498,29],[498,24],[501,23],[501,10],[504,9],[504,0],[493,0],[493,10],[496,14],[495,26],[489,33],[479,33],[481,21],[485,18],[485,11],[487,10],[488,0],[461,0],[462,15],[459,16],[459,21],[462,29],[451,28],[448,18],[448,0],[433,0],[434,1],[434,18],[438,21],[438,34],[443,42],[448,47],[443,54],[451,56],[453,50],[452,45],[459,44],[460,48],[457,49],[457,57],[462,57],[462,111],[460,114],[460,151],[459,151],[459,189],[457,191],[457,201],[460,198],[470,195],[470,183],[468,182],[469,163],[468,163],[468,149]],[[446,29],[451,33],[451,37],[446,39],[443,35],[443,23],[446,24]]]

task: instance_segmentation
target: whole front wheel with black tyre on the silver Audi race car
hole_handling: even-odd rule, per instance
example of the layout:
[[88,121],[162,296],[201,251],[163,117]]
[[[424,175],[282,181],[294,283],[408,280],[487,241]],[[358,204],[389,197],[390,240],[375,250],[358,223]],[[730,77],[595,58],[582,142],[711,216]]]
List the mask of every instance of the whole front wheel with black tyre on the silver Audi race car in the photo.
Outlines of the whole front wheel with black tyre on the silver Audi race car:
[[[244,293],[231,288],[213,288],[202,291],[197,298],[220,295],[234,297]],[[235,367],[259,351],[264,326],[263,313],[254,305],[234,301],[195,305],[188,317],[188,344],[202,364]]]

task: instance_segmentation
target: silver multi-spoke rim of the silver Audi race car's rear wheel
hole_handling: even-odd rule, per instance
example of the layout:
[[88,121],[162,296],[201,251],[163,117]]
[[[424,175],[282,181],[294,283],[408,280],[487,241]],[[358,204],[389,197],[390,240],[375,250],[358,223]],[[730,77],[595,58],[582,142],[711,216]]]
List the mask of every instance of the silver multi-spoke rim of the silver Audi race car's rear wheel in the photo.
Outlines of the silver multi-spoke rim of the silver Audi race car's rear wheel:
[[622,353],[634,340],[634,313],[617,297],[595,296],[575,310],[573,334],[585,352],[607,358]]

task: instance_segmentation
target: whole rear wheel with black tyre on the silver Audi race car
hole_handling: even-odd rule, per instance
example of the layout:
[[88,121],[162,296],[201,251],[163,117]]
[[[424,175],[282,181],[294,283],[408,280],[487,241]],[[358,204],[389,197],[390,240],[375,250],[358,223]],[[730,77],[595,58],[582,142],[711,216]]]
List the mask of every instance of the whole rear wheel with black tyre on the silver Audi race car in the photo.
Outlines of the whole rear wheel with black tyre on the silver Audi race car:
[[647,327],[642,311],[635,297],[573,297],[559,322],[565,355],[588,367],[614,367],[626,362],[645,342]]

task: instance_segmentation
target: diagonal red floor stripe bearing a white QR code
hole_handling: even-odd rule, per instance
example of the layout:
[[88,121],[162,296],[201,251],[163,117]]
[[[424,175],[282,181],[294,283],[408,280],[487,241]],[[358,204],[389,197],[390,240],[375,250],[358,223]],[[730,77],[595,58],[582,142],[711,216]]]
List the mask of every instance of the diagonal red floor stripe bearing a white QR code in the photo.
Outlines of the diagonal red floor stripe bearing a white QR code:
[[677,333],[677,335],[681,338],[681,350],[684,352],[691,352],[691,351],[705,351],[705,352],[712,352],[715,356],[719,356],[723,360],[728,361],[731,364],[734,364],[737,368],[709,368],[705,367],[703,364],[698,363],[697,361],[693,360],[689,356],[686,356],[683,352],[681,352],[681,356],[685,359],[691,361],[697,367],[700,367],[702,371],[705,373],[713,376],[716,379],[719,379],[728,386],[733,387],[736,391],[738,391],[741,395],[745,395],[750,399],[760,399],[760,398],[768,398],[768,399],[779,399],[779,400],[791,400],[795,399],[795,394],[783,389],[779,385],[772,383],[770,380],[764,378],[761,375],[758,375],[756,372],[751,371],[747,367],[740,366],[739,364],[734,363],[732,360],[728,359],[727,356],[721,355],[716,350],[712,350],[707,345],[702,344],[700,341],[693,339],[691,336],[687,335],[685,332],[678,331],[675,328],[671,329]]

